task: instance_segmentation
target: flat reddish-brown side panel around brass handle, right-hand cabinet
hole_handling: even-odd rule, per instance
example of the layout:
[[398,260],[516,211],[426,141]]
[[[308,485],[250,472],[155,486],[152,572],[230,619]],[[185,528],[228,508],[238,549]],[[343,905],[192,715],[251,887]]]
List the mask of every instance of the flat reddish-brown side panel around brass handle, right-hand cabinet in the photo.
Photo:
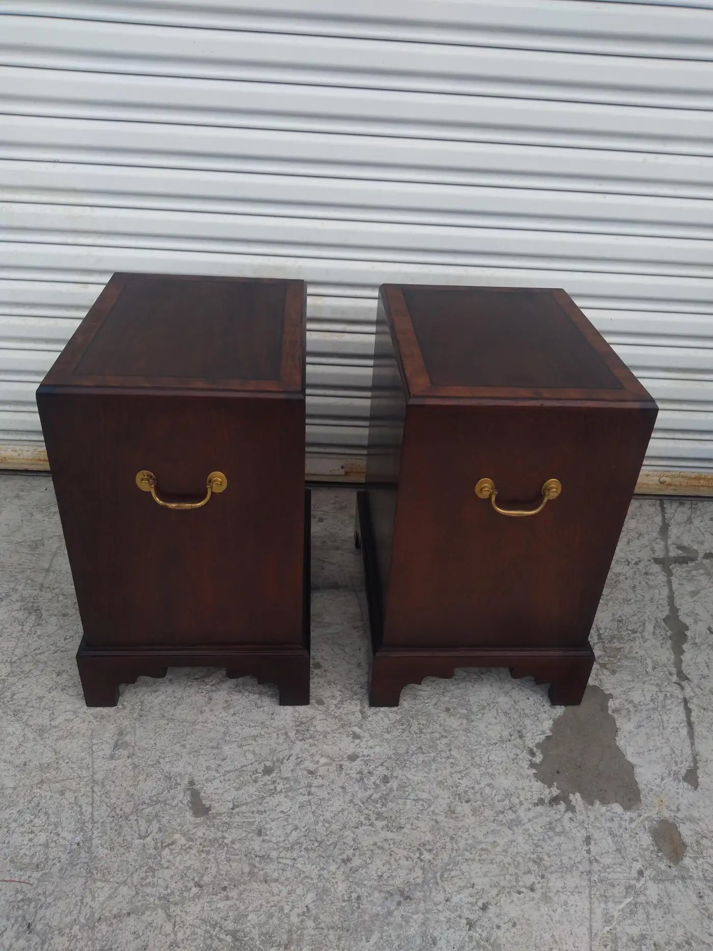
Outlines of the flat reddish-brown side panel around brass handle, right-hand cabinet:
[[[413,407],[384,643],[578,647],[587,640],[655,411]],[[491,479],[504,509],[474,487]]]

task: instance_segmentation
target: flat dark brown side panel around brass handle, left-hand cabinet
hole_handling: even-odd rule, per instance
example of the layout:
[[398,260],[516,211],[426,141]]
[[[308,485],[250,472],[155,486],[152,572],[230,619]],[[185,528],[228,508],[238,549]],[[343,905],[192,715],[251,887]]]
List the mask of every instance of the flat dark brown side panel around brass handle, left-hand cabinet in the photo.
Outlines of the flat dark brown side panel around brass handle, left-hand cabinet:
[[[90,646],[299,644],[301,398],[40,398]],[[225,490],[200,508],[206,478]]]

